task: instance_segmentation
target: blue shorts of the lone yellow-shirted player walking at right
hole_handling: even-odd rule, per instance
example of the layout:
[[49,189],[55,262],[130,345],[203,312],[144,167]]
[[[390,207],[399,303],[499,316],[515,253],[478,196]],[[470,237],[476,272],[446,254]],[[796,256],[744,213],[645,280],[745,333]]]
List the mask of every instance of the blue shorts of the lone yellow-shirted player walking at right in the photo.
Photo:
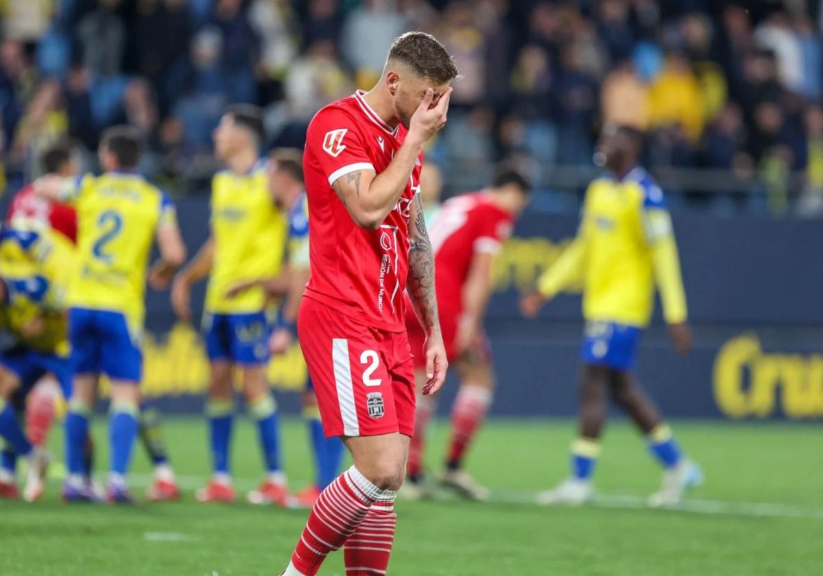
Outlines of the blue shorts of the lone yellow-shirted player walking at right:
[[614,322],[589,322],[580,360],[584,364],[605,365],[616,370],[630,370],[635,365],[637,345],[642,331],[638,327]]

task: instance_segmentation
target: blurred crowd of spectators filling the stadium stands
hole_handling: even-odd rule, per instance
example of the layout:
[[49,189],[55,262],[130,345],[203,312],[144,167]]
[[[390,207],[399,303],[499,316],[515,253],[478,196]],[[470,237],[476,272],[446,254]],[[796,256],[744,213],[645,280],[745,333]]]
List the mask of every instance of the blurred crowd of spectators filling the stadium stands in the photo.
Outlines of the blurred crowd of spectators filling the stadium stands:
[[[5,177],[16,188],[49,142],[69,136],[94,150],[104,128],[128,122],[146,134],[146,174],[205,191],[211,131],[227,104],[263,105],[269,145],[302,146],[313,114],[371,86],[391,40],[417,29],[437,35],[464,76],[429,151],[452,190],[481,186],[493,160],[523,156],[542,188],[579,191],[605,120],[649,130],[647,163],[664,187],[686,192],[683,202],[728,192],[735,210],[816,214],[821,4],[5,0]],[[546,194],[537,205],[577,201]]]

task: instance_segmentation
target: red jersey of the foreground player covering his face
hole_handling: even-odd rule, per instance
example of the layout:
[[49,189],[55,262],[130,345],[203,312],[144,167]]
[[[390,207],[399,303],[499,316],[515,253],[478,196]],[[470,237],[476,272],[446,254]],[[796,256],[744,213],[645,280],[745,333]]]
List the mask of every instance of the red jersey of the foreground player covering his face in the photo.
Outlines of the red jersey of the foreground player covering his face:
[[423,156],[383,224],[377,230],[356,225],[332,183],[356,170],[383,172],[407,134],[402,125],[389,128],[362,95],[337,100],[309,123],[303,168],[311,280],[305,295],[369,327],[404,332],[409,212]]

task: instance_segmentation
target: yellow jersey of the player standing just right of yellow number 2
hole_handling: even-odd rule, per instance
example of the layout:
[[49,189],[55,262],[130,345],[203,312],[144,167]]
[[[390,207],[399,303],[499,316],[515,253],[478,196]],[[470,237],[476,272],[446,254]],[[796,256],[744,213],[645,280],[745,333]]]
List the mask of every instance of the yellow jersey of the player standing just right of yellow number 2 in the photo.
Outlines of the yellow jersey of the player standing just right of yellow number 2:
[[272,201],[266,163],[261,160],[247,174],[228,170],[212,179],[212,239],[214,262],[206,292],[209,314],[262,312],[262,288],[246,290],[235,298],[226,293],[237,284],[277,276],[286,250],[289,223]]

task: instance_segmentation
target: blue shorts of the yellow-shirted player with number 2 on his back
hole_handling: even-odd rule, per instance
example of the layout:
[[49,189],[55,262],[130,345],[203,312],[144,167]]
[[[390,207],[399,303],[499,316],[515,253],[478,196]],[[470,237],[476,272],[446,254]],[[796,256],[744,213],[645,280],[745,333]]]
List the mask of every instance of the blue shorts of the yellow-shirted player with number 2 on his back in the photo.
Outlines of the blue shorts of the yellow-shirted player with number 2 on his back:
[[119,312],[72,308],[68,312],[68,339],[75,374],[105,374],[110,379],[142,379],[140,337]]

